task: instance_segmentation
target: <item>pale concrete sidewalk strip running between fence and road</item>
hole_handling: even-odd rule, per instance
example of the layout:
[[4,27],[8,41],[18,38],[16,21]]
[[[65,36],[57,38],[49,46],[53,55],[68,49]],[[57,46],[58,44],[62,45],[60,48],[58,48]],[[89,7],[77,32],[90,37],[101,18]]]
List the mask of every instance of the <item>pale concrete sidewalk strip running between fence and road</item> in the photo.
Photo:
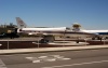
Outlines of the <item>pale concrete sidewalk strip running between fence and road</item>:
[[21,54],[21,53],[39,53],[39,52],[57,52],[57,51],[80,51],[80,50],[97,50],[97,49],[108,49],[106,45],[82,45],[82,46],[60,46],[60,47],[33,47],[33,49],[11,49],[11,50],[0,50],[0,54]]

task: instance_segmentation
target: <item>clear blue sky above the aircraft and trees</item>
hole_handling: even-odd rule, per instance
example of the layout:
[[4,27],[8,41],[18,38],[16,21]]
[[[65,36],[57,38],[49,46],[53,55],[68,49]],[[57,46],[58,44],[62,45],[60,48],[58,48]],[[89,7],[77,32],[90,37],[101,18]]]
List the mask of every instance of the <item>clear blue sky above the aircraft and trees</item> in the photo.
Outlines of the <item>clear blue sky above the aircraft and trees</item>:
[[0,25],[21,17],[28,27],[108,29],[108,0],[0,0]]

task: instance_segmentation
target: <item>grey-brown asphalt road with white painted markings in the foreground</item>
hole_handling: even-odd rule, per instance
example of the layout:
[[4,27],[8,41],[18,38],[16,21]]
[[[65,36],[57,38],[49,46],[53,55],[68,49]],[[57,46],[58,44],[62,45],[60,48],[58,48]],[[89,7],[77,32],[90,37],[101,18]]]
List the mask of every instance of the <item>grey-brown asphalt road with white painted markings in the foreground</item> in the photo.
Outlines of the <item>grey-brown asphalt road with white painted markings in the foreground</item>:
[[0,68],[108,68],[108,49],[0,55]]

